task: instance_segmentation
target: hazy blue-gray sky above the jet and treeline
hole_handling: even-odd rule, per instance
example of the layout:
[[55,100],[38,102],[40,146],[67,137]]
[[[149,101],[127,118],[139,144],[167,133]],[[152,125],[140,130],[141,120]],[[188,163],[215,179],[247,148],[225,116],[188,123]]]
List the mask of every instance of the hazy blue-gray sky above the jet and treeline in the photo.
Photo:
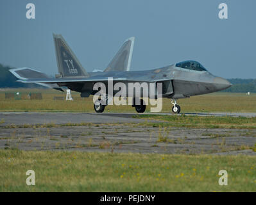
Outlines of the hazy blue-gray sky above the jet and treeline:
[[[26,4],[35,19],[26,19]],[[228,19],[219,19],[219,4]],[[52,33],[83,67],[105,69],[135,37],[131,70],[200,61],[224,78],[256,78],[255,0],[0,0],[0,63],[56,74]]]

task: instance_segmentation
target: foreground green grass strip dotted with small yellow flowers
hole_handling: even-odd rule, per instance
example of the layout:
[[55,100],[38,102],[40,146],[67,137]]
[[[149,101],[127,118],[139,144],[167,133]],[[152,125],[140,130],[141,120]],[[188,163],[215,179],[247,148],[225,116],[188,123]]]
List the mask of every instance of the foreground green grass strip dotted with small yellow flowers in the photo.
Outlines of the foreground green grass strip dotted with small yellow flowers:
[[255,156],[0,150],[0,164],[0,192],[256,192]]

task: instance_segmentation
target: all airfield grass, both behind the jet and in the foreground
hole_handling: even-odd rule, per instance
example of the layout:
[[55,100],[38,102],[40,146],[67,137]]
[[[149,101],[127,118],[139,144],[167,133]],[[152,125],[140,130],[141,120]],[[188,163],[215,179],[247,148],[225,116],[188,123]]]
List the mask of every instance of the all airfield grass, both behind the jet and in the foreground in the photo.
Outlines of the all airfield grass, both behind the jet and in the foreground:
[[[5,92],[21,92],[21,100],[5,99]],[[42,100],[30,100],[41,92]],[[0,111],[94,112],[92,97],[53,100],[65,93],[50,89],[0,90]],[[162,112],[171,112],[164,99]],[[256,94],[216,93],[180,99],[182,112],[255,112]],[[146,110],[149,112],[149,106]],[[107,106],[105,112],[135,112],[132,106]],[[136,115],[133,126],[256,129],[255,118]],[[161,122],[148,122],[149,119]],[[4,119],[0,119],[0,124]],[[54,123],[41,127],[80,126]],[[111,124],[110,124],[111,125]],[[8,125],[26,128],[35,125]],[[37,126],[35,126],[37,127]],[[1,129],[1,128],[0,128]],[[160,129],[160,128],[159,128]],[[247,133],[244,135],[247,136]],[[248,135],[251,136],[250,132]],[[256,144],[255,144],[256,146]],[[256,151],[256,147],[251,147]],[[173,154],[117,154],[0,149],[0,192],[256,192],[256,156]],[[228,172],[228,186],[218,184],[219,170]],[[35,171],[35,186],[26,185],[26,171]]]

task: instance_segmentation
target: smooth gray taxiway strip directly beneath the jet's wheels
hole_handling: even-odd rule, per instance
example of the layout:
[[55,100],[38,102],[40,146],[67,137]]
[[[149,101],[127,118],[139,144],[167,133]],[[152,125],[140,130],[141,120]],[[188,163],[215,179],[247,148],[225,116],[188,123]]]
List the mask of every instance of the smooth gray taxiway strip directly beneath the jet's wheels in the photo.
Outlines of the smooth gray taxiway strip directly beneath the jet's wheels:
[[[2,112],[0,120],[4,119],[1,126],[8,124],[65,124],[65,123],[130,123],[144,122],[143,119],[134,119],[133,115],[175,115],[173,113],[33,113],[33,112]],[[231,116],[231,117],[256,117],[256,113],[184,113],[197,116]],[[182,114],[179,114],[182,115]]]

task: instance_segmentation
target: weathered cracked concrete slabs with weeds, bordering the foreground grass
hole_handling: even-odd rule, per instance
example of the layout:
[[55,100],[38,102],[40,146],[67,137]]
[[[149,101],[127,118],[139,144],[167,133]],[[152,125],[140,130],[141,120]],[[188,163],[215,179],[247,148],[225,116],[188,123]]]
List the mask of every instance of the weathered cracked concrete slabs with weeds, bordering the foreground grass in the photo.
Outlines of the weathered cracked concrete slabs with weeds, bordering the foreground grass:
[[254,129],[164,131],[131,124],[0,128],[0,149],[254,155],[255,143]]

